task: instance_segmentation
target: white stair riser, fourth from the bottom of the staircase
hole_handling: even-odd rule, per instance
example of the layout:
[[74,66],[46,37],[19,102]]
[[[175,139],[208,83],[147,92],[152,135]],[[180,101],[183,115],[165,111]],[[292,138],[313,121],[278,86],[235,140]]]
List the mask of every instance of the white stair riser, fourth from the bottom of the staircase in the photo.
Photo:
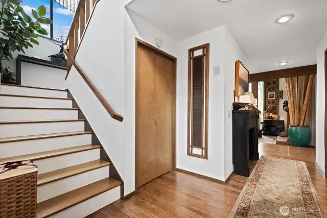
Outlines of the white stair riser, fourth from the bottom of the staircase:
[[0,158],[91,144],[91,134],[0,143]]

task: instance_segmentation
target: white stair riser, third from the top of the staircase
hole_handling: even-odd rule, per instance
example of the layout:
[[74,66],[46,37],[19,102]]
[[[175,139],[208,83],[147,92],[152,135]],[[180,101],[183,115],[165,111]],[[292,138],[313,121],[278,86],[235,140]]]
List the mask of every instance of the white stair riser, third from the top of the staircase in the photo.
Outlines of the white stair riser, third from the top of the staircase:
[[54,119],[77,119],[78,110],[52,109],[0,109],[1,121],[31,121]]

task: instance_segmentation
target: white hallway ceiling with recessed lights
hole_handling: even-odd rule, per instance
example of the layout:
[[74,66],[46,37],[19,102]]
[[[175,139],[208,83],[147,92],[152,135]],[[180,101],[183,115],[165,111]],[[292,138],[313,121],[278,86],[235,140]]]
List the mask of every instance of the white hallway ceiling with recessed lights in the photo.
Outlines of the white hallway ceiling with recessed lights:
[[[127,8],[176,41],[226,25],[251,73],[315,64],[327,31],[326,0],[133,0]],[[275,23],[285,14],[295,17]]]

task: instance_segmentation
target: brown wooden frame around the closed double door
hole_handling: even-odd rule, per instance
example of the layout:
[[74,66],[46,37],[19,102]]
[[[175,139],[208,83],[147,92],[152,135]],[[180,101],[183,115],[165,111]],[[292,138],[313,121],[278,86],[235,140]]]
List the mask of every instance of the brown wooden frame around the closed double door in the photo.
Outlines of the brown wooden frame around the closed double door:
[[137,60],[138,60],[138,46],[142,46],[145,49],[160,55],[162,57],[165,57],[169,60],[173,61],[173,88],[174,88],[174,102],[173,102],[173,107],[174,107],[174,112],[173,112],[173,170],[176,170],[176,89],[177,89],[177,84],[176,84],[176,74],[177,74],[177,58],[175,58],[174,56],[161,51],[159,49],[157,49],[156,47],[152,46],[151,44],[135,38],[135,190],[138,189],[137,187],[137,153],[138,153],[138,144],[137,144],[137,123],[138,123],[138,117],[137,117]]

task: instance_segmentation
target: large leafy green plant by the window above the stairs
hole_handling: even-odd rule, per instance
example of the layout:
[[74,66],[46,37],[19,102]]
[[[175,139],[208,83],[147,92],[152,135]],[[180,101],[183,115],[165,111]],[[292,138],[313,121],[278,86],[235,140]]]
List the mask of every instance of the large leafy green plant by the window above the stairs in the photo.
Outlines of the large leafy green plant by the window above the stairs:
[[43,5],[38,11],[32,9],[33,18],[30,17],[22,7],[22,0],[0,0],[2,6],[0,11],[0,71],[3,83],[16,82],[15,73],[10,67],[3,67],[3,61],[13,59],[15,51],[25,54],[25,49],[39,45],[36,40],[38,36],[48,35],[41,24],[51,24],[52,20],[45,17],[46,9]]

